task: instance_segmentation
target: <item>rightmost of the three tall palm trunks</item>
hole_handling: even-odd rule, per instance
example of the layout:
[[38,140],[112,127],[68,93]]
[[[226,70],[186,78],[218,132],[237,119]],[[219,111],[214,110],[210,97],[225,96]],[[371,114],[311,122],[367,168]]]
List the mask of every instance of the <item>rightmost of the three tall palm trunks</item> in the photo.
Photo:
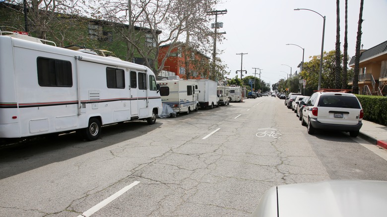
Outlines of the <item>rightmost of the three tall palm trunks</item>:
[[359,22],[357,26],[357,37],[356,37],[356,52],[355,52],[355,68],[353,73],[353,86],[352,93],[359,93],[359,62],[360,62],[360,44],[362,39],[362,23],[363,23],[363,3],[364,0],[360,0],[360,13]]

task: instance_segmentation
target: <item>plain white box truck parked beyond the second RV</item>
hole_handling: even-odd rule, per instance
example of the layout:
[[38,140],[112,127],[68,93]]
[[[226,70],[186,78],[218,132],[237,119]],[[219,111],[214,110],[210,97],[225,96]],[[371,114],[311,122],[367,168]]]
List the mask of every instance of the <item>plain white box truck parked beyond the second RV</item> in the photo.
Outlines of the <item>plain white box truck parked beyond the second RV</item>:
[[219,98],[216,95],[218,83],[208,79],[190,79],[196,81],[199,87],[199,106],[200,108],[219,107]]

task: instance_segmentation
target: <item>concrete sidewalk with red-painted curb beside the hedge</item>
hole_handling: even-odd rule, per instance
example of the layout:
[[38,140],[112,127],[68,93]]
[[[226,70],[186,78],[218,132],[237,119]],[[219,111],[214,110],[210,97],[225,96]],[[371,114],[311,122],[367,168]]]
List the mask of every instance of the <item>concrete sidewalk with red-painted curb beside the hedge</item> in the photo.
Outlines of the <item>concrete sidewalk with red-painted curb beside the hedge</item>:
[[368,142],[387,149],[387,126],[362,120],[359,136]]

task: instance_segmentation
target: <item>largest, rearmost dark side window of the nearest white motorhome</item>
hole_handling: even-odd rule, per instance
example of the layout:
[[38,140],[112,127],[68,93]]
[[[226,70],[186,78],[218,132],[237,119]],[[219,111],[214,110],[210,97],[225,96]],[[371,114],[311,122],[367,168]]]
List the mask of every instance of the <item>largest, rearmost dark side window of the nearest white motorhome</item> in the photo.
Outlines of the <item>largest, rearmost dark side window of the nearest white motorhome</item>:
[[71,62],[38,57],[38,83],[47,87],[72,87]]

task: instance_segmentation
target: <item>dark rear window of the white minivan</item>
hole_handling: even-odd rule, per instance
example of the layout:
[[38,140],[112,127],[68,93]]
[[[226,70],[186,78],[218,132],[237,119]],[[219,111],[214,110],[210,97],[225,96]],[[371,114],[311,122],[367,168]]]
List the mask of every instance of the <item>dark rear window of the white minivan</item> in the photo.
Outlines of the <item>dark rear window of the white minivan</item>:
[[357,98],[348,96],[321,96],[318,106],[360,109],[360,104]]

